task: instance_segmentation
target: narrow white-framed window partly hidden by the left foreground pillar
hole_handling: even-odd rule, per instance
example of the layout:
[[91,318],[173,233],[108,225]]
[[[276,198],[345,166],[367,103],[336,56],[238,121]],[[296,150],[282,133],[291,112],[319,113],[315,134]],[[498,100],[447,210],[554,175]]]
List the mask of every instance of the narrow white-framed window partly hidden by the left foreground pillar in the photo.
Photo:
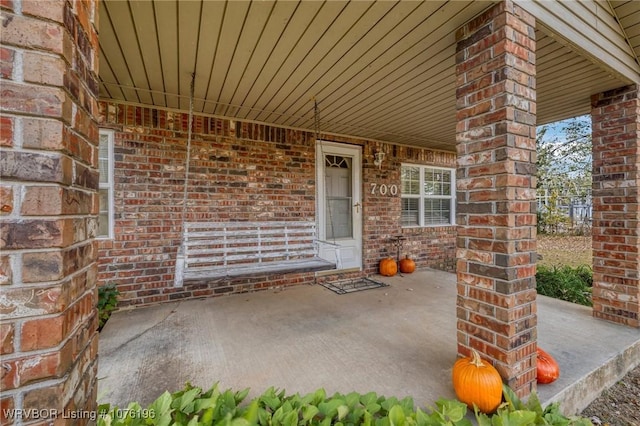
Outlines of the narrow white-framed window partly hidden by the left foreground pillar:
[[113,132],[100,130],[98,238],[113,238]]

